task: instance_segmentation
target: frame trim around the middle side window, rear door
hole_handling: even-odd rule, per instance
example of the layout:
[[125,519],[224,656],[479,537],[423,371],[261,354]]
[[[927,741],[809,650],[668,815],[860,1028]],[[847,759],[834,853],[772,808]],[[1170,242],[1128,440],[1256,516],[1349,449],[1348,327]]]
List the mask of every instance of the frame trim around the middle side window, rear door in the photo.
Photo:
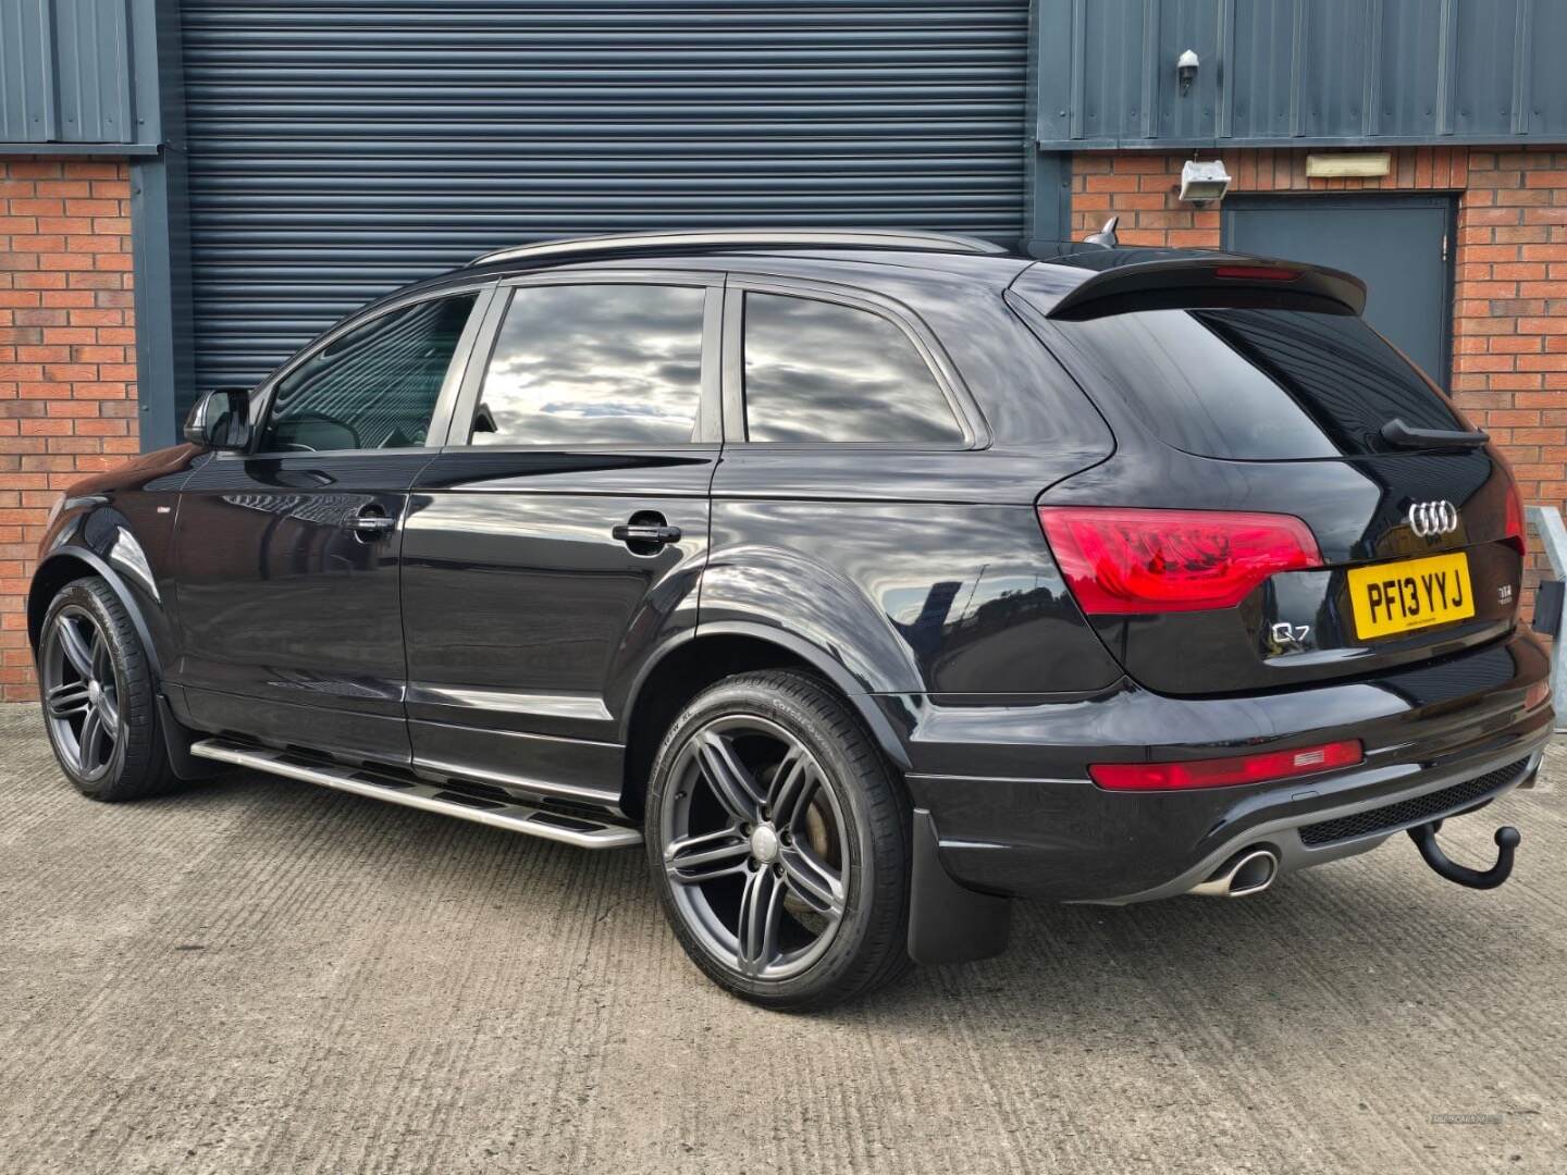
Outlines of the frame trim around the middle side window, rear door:
[[503,277],[495,296],[486,309],[483,332],[473,348],[458,390],[442,453],[547,453],[548,445],[472,445],[473,414],[478,410],[480,392],[489,373],[500,329],[511,309],[512,293],[519,288],[539,285],[683,285],[705,291],[702,304],[702,378],[697,392],[696,423],[691,439],[669,445],[630,445],[624,440],[584,442],[580,445],[556,445],[555,451],[591,453],[663,453],[672,448],[718,448],[724,439],[724,407],[721,403],[721,348],[724,321],[724,274],[707,269],[550,269],[547,273]]

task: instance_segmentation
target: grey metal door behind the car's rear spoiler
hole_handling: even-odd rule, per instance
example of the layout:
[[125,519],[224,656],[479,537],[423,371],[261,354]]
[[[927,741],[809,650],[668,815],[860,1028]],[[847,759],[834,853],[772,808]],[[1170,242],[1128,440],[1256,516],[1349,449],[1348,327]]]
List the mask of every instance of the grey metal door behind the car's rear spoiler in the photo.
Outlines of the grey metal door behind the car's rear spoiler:
[[1448,385],[1453,201],[1446,196],[1279,196],[1224,204],[1224,248],[1346,269],[1365,318]]

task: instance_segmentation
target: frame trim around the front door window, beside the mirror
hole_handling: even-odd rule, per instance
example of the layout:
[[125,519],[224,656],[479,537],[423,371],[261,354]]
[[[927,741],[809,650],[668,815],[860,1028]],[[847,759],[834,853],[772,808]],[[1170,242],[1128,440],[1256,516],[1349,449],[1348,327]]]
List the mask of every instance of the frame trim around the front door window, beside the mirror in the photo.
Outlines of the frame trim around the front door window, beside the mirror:
[[[273,371],[266,379],[263,379],[252,393],[252,418],[251,426],[251,445],[238,453],[219,453],[218,459],[229,461],[282,461],[285,457],[313,457],[317,454],[323,457],[370,457],[379,453],[385,454],[403,454],[409,453],[437,453],[445,442],[447,434],[451,429],[451,414],[458,403],[458,392],[462,385],[462,379],[467,374],[469,363],[473,356],[473,345],[480,337],[480,324],[487,313],[490,304],[495,299],[495,279],[487,279],[483,282],[464,282],[461,285],[442,287],[440,290],[431,291],[423,290],[418,293],[409,293],[395,301],[376,304],[375,307],[360,309],[356,313],[340,320],[335,326],[329,327],[324,334],[317,335],[310,343],[307,343],[301,351],[298,351],[291,359],[285,360],[282,367]],[[357,331],[367,323],[373,323],[389,313],[396,313],[398,310],[406,310],[411,306],[420,306],[423,302],[436,302],[445,298],[462,298],[465,295],[473,295],[473,309],[469,312],[469,320],[462,326],[462,334],[458,335],[458,345],[451,352],[451,360],[447,363],[447,374],[440,382],[440,393],[436,396],[436,407],[429,417],[429,429],[425,434],[423,445],[407,445],[403,448],[331,448],[331,450],[262,450],[262,436],[266,431],[266,420],[273,410],[273,395],[277,390],[277,384],[293,374],[304,363],[310,362],[317,352],[331,346],[334,342],[342,338],[351,331]]]

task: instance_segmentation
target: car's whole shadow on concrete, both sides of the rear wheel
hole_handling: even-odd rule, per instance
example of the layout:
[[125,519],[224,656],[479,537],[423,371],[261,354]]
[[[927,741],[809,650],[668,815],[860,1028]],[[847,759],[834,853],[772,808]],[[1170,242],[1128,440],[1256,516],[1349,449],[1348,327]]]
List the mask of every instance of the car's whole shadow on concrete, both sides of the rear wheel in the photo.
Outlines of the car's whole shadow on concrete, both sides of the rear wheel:
[[[574,909],[595,921],[594,951],[635,953],[649,920],[661,920],[639,849],[584,854],[251,772],[160,802],[244,801],[268,824],[324,822],[317,832],[345,860],[395,862],[400,888],[420,885],[426,866],[439,866],[448,891],[469,893],[473,902],[500,901],[503,916],[539,924],[552,924],[561,895],[570,893]],[[390,855],[389,838],[396,841]],[[1526,870],[1528,857],[1520,860]],[[522,873],[527,885],[497,888],[497,877]],[[1335,1006],[1363,1018],[1391,1015],[1410,1001],[1506,1006],[1512,985],[1523,982],[1506,960],[1551,949],[1539,920],[1517,915],[1520,893],[1476,893],[1443,882],[1396,837],[1373,854],[1283,877],[1241,899],[1174,898],[1127,907],[1019,901],[1004,954],[915,968],[873,996],[820,1015],[923,1032],[954,1018],[975,1029],[1015,1025],[1020,1015],[1091,1029],[1186,1012],[1246,1023],[1260,1014],[1308,1021]],[[679,953],[672,935],[668,949]],[[1487,965],[1475,965],[1476,957]],[[696,968],[689,982],[707,987]]]

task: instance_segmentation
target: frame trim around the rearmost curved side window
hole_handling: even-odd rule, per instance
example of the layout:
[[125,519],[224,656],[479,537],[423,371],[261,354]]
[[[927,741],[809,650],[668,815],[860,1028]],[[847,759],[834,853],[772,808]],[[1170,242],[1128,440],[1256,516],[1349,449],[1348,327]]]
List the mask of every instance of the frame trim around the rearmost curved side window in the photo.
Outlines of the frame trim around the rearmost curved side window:
[[[925,360],[935,387],[946,398],[946,406],[962,431],[956,442],[910,440],[751,440],[746,415],[746,351],[744,351],[744,299],[747,293],[769,293],[785,298],[804,298],[816,302],[832,302],[852,310],[863,310],[892,323],[914,345]],[[834,282],[798,277],[774,277],[765,274],[730,273],[724,287],[724,443],[744,445],[766,451],[798,450],[898,450],[959,453],[987,448],[990,428],[964,384],[957,367],[942,349],[935,334],[907,306],[871,290],[851,288]]]

